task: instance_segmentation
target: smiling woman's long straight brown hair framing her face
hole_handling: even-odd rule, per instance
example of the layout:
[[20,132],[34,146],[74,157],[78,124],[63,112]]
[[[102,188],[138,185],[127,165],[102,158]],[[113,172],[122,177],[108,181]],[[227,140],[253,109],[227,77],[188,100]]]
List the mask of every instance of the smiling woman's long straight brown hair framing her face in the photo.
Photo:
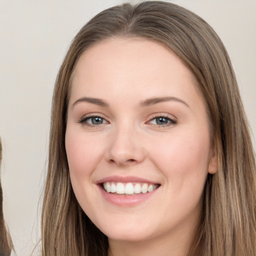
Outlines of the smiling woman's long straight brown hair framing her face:
[[114,37],[140,37],[172,50],[193,72],[208,111],[218,171],[208,174],[190,256],[256,255],[255,157],[228,54],[213,29],[172,3],[146,1],[106,9],[73,39],[52,101],[48,172],[41,230],[43,256],[107,255],[107,237],[82,211],[71,188],[65,153],[70,77],[82,52]]

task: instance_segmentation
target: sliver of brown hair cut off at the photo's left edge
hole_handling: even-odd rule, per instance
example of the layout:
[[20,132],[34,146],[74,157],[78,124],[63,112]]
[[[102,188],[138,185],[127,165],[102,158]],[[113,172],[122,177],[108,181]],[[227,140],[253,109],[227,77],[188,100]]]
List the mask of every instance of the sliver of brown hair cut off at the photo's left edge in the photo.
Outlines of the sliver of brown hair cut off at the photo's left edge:
[[[0,139],[0,165],[1,165],[1,161],[2,161],[2,144]],[[0,179],[0,256],[9,256],[11,250],[13,249],[13,244],[4,223],[2,199],[3,199],[3,196],[2,196],[2,186],[1,186],[1,179]]]

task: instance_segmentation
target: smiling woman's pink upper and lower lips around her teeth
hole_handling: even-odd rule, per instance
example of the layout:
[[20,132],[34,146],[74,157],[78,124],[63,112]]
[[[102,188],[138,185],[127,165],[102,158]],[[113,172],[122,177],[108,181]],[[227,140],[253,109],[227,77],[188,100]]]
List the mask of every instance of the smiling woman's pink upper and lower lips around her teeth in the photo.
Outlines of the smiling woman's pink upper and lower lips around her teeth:
[[111,204],[114,204],[117,206],[123,206],[123,207],[132,207],[145,202],[151,196],[157,193],[157,190],[159,188],[157,187],[153,191],[147,192],[147,193],[115,194],[115,193],[108,193],[102,188],[102,183],[107,181],[122,182],[122,183],[128,183],[128,182],[142,182],[142,183],[150,183],[150,184],[159,184],[159,183],[155,183],[152,180],[148,180],[148,179],[144,179],[136,176],[108,176],[108,177],[99,179],[95,182],[101,195],[106,201],[108,201]]

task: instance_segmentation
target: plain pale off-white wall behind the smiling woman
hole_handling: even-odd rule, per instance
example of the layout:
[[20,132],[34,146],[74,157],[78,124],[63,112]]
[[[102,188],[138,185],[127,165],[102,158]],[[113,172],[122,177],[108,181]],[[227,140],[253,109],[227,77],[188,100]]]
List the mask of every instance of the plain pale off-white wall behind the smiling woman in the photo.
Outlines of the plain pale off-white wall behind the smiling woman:
[[[78,29],[100,10],[122,2],[0,0],[1,177],[4,214],[17,255],[29,255],[39,236],[38,202],[58,67]],[[232,60],[256,135],[256,0],[171,2],[197,13],[219,34]]]

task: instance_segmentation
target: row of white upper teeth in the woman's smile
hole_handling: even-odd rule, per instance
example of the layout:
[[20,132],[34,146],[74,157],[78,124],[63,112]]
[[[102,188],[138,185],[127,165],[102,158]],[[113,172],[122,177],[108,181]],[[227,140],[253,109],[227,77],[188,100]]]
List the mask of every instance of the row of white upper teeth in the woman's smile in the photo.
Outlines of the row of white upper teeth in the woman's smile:
[[122,183],[122,182],[104,182],[103,188],[108,193],[117,193],[117,194],[139,194],[147,193],[156,189],[158,185],[156,184],[147,184],[147,183],[136,183],[133,185],[131,182]]

